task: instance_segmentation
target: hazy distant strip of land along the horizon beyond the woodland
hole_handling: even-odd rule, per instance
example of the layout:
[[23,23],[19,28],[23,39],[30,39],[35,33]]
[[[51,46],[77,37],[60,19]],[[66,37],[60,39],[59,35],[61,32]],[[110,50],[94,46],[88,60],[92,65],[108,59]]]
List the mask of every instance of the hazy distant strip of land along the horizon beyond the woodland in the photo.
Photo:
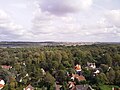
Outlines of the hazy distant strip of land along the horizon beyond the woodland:
[[0,42],[0,47],[80,46],[92,44],[120,44],[119,42]]

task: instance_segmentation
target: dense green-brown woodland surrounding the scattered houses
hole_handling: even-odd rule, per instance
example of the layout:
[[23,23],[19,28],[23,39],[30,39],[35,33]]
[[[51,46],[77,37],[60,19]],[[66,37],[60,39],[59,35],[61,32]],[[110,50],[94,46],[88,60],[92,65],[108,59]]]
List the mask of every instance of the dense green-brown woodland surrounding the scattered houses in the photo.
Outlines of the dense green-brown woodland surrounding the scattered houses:
[[[87,62],[96,64],[100,74],[93,76],[87,70]],[[45,90],[54,90],[55,82],[67,89],[67,72],[75,73],[76,64],[82,66],[85,82],[96,90],[99,85],[120,86],[120,45],[45,46],[29,48],[0,48],[0,65],[12,66],[10,70],[0,67],[0,78],[6,86],[3,90],[23,90],[28,84]],[[108,68],[111,69],[108,71]],[[41,68],[44,69],[43,74]],[[27,74],[27,76],[26,76]],[[22,81],[20,79],[22,78]]]

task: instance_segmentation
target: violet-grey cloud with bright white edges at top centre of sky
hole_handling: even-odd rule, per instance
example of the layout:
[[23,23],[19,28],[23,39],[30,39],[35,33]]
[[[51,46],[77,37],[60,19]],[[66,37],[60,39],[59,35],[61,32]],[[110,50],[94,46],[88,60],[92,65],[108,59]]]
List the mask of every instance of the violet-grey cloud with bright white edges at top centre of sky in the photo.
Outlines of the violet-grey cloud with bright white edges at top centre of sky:
[[43,12],[65,15],[88,9],[93,0],[38,0],[38,3]]

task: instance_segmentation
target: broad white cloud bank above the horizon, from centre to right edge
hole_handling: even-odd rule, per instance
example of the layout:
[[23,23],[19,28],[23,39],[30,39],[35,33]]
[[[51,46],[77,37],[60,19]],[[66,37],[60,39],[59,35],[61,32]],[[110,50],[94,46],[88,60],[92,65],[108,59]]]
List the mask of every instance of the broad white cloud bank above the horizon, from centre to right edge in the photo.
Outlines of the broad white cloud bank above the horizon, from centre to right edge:
[[81,18],[76,17],[77,15],[79,14],[59,16],[37,8],[32,33],[36,35],[36,40],[40,38],[39,40],[109,41],[120,38],[119,28],[109,23],[108,17],[101,17],[96,22],[85,24],[78,20]]

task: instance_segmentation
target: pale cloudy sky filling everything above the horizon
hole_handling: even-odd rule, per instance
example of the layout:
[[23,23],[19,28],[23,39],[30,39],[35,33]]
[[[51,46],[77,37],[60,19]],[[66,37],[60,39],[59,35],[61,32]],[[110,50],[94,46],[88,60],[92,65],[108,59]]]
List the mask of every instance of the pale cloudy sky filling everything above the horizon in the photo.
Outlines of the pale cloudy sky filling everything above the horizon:
[[120,0],[0,0],[0,41],[120,42]]

